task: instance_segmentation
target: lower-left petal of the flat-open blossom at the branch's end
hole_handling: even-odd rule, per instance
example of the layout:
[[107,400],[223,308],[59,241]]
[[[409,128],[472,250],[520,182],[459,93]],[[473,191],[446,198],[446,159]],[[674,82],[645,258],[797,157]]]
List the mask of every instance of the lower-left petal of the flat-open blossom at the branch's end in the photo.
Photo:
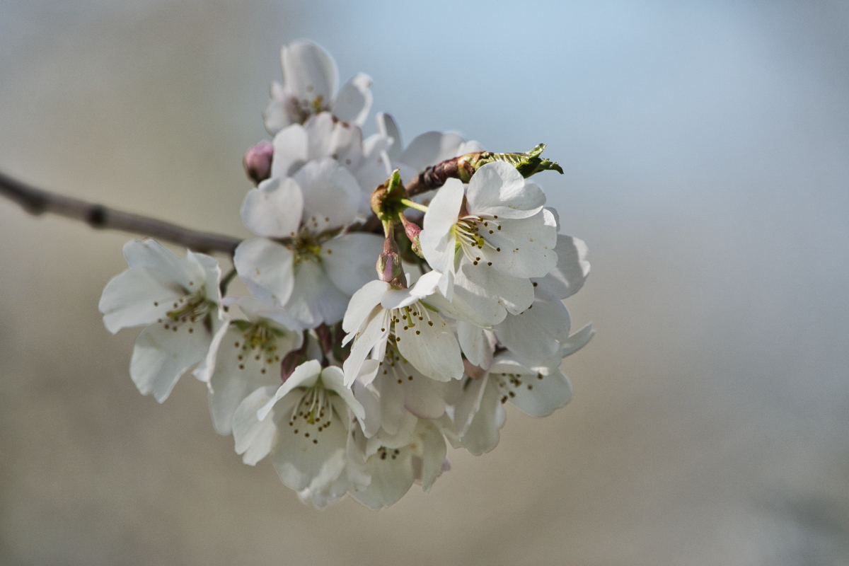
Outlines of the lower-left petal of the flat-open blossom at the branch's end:
[[245,240],[236,248],[233,265],[239,277],[259,300],[284,305],[295,286],[292,252],[266,238]]

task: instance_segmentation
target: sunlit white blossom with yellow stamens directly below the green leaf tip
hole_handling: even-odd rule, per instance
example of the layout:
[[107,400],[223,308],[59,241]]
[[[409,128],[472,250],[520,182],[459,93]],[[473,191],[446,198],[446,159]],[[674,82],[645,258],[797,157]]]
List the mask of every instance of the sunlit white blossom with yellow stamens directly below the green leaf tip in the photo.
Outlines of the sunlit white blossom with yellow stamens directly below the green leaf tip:
[[483,165],[466,193],[449,179],[430,201],[419,234],[424,258],[442,272],[442,294],[453,300],[458,285],[469,305],[492,311],[493,323],[530,306],[529,277],[557,265],[556,221],[544,204],[542,189],[500,161]]

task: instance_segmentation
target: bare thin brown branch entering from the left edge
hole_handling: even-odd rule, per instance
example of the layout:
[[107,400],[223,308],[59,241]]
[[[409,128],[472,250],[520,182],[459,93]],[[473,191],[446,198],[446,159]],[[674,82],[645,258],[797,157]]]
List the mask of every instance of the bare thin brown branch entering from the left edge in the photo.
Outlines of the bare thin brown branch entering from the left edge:
[[98,229],[122,230],[179,244],[198,252],[222,251],[230,255],[241,240],[231,236],[190,230],[171,222],[156,220],[130,212],[110,209],[59,194],[30,187],[0,172],[0,195],[21,205],[31,215],[52,212],[59,216],[86,222]]

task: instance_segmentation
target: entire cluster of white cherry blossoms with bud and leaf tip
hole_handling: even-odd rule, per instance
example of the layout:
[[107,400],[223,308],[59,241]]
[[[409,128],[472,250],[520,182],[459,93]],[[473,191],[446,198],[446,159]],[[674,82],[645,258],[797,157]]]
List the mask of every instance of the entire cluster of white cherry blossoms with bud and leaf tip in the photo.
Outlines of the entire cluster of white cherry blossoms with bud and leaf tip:
[[[100,311],[112,333],[144,327],[130,362],[143,394],[165,401],[194,367],[245,463],[269,457],[316,507],[387,507],[430,490],[448,444],[491,451],[505,403],[543,417],[570,400],[559,367],[593,330],[570,333],[563,300],[588,276],[587,246],[528,180],[560,171],[544,146],[496,154],[427,132],[404,147],[388,114],[363,138],[368,76],[339,88],[303,40],[282,64],[263,114],[273,141],[245,154],[256,237],[234,271],[132,241]],[[250,296],[226,295],[235,274]]]

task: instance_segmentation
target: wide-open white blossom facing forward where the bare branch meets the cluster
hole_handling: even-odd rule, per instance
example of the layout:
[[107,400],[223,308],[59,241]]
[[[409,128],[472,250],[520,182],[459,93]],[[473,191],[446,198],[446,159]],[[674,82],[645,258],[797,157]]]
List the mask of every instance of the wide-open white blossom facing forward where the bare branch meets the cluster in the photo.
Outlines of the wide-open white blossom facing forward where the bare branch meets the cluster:
[[251,189],[242,219],[261,238],[239,244],[233,258],[250,293],[305,328],[339,322],[351,294],[376,277],[383,249],[374,234],[336,235],[356,219],[359,195],[351,174],[329,158]]

